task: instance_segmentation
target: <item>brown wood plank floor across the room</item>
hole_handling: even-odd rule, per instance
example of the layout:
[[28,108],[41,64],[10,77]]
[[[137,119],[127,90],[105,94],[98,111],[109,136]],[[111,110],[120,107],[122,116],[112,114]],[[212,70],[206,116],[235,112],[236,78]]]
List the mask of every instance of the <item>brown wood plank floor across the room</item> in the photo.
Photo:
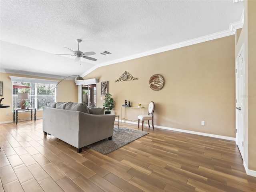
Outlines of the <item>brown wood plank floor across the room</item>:
[[[135,124],[121,126],[138,129]],[[0,192],[255,192],[234,141],[170,130],[107,155],[44,135],[42,120],[0,124]]]

